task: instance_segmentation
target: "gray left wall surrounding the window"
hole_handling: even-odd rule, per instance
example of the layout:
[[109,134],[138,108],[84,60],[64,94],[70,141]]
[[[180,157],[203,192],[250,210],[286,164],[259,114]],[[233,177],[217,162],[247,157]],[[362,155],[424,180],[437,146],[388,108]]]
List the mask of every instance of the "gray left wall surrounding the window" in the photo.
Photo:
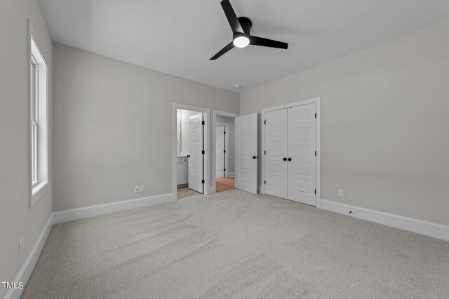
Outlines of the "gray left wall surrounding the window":
[[[50,71],[52,43],[35,0],[0,1],[0,281],[13,281],[52,211],[51,85],[49,113],[49,183],[44,197],[29,208],[29,97],[27,18],[34,27]],[[18,244],[23,236],[22,257]],[[6,290],[0,287],[0,298]]]

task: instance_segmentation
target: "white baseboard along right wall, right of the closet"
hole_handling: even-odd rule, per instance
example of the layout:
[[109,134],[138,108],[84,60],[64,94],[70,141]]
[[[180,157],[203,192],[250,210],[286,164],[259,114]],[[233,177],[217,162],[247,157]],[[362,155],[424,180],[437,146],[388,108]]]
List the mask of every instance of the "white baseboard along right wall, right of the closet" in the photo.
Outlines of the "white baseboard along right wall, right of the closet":
[[[351,206],[349,204],[342,204],[340,202],[331,202],[329,200],[321,200],[321,209],[334,211],[339,214],[353,216],[363,220],[373,221],[384,225],[389,225],[394,228],[401,228],[402,230],[409,230],[410,232],[417,232],[418,234],[428,235],[449,241],[449,226],[422,221],[405,216],[384,213],[382,211],[375,211],[372,209],[365,209],[361,207]],[[351,211],[351,214],[349,214]]]

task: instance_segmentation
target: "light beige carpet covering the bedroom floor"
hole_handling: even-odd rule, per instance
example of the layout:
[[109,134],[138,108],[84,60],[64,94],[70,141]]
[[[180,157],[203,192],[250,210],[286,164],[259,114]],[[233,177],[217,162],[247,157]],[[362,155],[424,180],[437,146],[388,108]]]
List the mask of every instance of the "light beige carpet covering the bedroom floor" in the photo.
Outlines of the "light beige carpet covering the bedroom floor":
[[449,242],[239,190],[55,225],[22,298],[448,298]]

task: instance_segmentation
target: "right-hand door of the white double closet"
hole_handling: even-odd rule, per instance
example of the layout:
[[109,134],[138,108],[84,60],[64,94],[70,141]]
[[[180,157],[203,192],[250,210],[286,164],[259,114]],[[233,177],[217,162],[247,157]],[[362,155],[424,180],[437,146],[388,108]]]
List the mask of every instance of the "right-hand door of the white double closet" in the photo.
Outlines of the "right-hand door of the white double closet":
[[288,199],[316,205],[316,104],[288,109]]

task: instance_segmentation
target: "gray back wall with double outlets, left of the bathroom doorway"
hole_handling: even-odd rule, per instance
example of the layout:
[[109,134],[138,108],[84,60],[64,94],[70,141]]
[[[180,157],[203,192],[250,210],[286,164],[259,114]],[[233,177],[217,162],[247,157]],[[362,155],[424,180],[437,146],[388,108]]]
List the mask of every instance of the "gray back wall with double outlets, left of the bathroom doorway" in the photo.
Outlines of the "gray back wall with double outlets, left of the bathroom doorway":
[[[172,192],[172,104],[239,112],[239,95],[53,44],[53,209]],[[210,116],[210,124],[211,124]],[[145,193],[134,186],[145,184]]]

